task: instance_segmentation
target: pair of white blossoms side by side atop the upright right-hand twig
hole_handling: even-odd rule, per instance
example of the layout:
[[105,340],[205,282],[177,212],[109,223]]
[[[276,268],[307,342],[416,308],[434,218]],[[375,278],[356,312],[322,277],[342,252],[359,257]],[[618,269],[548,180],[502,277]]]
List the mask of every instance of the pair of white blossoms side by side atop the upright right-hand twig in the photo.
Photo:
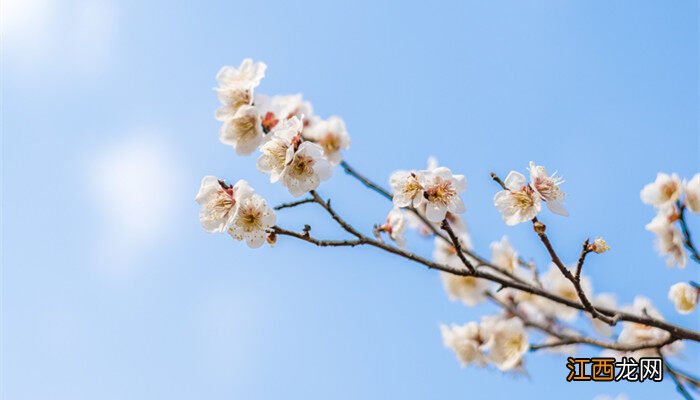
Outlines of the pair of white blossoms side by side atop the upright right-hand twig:
[[510,171],[503,182],[505,188],[493,197],[493,204],[501,212],[508,225],[517,225],[532,220],[542,210],[542,202],[555,214],[569,215],[564,208],[564,192],[559,185],[564,180],[556,172],[551,176],[547,170],[530,161],[530,183],[525,175]]

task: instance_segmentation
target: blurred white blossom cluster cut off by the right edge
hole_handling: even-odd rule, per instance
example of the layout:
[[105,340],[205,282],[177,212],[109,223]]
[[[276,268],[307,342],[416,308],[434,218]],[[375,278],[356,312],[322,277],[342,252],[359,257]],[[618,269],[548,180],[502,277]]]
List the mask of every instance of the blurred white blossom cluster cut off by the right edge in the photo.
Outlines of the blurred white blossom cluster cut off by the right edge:
[[[683,194],[685,193],[685,196]],[[666,264],[684,268],[688,255],[684,249],[683,233],[675,222],[683,209],[700,213],[700,174],[690,181],[683,181],[677,174],[658,173],[656,180],[642,189],[642,202],[656,207],[656,216],[646,225],[646,230],[656,235],[656,247],[667,256]]]

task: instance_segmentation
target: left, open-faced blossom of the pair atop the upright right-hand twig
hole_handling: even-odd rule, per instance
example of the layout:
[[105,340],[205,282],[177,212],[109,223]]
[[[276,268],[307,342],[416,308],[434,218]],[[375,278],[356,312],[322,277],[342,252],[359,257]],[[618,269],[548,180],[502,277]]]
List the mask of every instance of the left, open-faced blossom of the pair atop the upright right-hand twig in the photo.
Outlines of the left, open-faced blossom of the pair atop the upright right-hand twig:
[[506,189],[496,193],[493,204],[507,225],[517,225],[535,218],[542,209],[540,196],[527,184],[525,175],[510,171]]

